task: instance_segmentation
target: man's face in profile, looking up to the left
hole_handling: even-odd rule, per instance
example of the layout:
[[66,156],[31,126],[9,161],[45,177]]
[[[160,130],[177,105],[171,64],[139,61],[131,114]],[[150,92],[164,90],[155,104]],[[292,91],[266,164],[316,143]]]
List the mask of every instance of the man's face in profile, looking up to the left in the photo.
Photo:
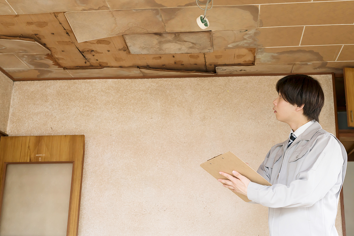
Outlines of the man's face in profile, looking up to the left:
[[278,98],[273,101],[273,104],[273,110],[275,110],[274,113],[277,120],[289,123],[289,121],[292,121],[295,118],[296,106],[286,102],[280,93]]

